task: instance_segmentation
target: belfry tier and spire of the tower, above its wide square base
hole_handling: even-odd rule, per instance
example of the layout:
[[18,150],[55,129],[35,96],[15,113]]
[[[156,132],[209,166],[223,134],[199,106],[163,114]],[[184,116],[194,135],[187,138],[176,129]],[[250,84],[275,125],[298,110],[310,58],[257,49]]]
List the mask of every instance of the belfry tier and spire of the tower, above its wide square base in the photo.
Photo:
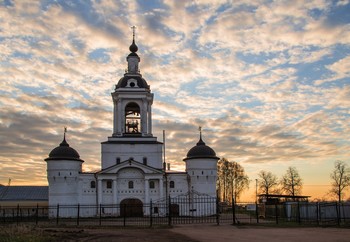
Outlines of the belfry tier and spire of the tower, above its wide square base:
[[113,137],[152,136],[153,94],[139,69],[140,57],[133,29],[130,54],[126,57],[128,68],[112,93],[114,104]]

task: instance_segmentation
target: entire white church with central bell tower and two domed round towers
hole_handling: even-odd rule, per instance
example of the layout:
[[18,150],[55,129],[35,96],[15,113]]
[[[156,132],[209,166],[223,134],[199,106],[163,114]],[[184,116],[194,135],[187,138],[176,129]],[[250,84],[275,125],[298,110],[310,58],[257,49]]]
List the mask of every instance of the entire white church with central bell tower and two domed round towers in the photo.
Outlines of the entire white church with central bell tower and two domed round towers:
[[[135,36],[135,35],[134,35]],[[184,172],[166,169],[163,143],[152,134],[153,93],[139,71],[140,57],[133,37],[124,76],[112,93],[113,133],[101,143],[101,170],[83,172],[84,161],[69,146],[65,136],[54,148],[47,162],[49,206],[115,205],[105,213],[118,215],[118,206],[138,205],[140,215],[147,215],[143,205],[163,202],[177,196],[216,197],[217,161],[215,151],[200,133],[198,143],[183,159]],[[113,206],[112,206],[113,207]],[[179,215],[189,210],[197,216],[209,215],[200,208],[177,207]],[[68,211],[68,210],[67,210]],[[98,210],[84,210],[80,216],[94,216]],[[161,211],[159,211],[161,213]],[[192,214],[193,215],[193,214]],[[53,212],[49,216],[56,216]],[[60,216],[74,216],[66,212]]]

